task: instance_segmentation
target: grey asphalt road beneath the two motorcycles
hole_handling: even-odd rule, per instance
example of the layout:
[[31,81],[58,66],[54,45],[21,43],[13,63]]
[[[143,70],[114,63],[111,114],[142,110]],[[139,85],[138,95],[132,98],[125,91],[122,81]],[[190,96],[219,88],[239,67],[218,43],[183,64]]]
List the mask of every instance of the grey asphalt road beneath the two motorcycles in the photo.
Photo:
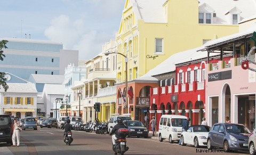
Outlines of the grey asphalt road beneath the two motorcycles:
[[[109,135],[73,131],[74,141],[70,146],[63,142],[62,129],[25,130],[21,132],[20,137],[20,147],[0,143],[0,152],[6,155],[114,154]],[[206,148],[196,150],[194,146],[170,144],[167,141],[159,142],[154,138],[127,138],[127,146],[130,149],[125,154],[249,154],[247,152],[225,153],[220,152],[221,150],[205,153]]]

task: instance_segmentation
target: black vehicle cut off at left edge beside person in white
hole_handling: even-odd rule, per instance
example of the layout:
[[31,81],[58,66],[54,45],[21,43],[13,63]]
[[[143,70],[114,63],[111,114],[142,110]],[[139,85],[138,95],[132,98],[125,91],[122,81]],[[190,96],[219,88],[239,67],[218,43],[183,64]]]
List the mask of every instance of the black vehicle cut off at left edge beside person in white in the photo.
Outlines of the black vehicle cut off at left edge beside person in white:
[[12,145],[13,124],[9,115],[0,115],[0,142]]

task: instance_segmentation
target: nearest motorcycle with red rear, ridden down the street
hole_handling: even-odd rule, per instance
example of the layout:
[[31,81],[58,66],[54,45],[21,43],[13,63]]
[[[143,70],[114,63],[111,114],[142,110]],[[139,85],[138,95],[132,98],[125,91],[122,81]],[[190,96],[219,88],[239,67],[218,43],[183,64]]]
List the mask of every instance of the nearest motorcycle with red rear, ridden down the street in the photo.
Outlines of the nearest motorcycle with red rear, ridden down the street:
[[[111,128],[113,128],[111,126]],[[120,136],[116,140],[116,144],[113,145],[113,151],[116,153],[119,153],[120,155],[123,155],[126,151],[129,150],[129,147],[126,146],[126,136],[129,135],[129,129],[126,128],[120,128],[118,129],[118,135]]]

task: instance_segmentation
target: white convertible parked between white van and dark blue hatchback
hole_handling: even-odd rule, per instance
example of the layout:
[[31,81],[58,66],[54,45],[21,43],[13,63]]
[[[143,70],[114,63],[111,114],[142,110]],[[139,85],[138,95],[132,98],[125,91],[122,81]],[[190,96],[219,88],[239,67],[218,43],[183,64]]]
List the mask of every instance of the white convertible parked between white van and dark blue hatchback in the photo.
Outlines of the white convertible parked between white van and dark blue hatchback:
[[210,126],[193,125],[187,131],[181,133],[181,145],[194,145],[195,148],[207,145],[207,137],[210,132]]

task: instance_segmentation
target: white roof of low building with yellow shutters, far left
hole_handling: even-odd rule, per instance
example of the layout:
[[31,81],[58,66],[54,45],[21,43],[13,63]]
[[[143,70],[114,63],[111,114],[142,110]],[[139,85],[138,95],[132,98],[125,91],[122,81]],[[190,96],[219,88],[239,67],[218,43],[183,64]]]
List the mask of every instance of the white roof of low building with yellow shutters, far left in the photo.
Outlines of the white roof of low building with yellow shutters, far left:
[[[12,93],[37,93],[35,84],[32,83],[8,83],[9,88],[6,92]],[[1,87],[0,92],[4,92]]]

